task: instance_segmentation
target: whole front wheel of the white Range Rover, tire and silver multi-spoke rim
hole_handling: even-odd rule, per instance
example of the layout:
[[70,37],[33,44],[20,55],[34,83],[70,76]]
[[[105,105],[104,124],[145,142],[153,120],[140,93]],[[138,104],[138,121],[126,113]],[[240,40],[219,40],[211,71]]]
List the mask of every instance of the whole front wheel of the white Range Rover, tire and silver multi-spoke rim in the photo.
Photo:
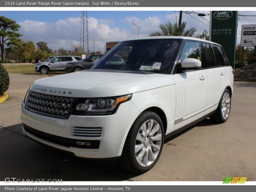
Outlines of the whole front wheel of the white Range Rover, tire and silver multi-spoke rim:
[[158,161],[164,145],[164,126],[153,111],[140,114],[127,135],[120,165],[130,172],[144,173]]

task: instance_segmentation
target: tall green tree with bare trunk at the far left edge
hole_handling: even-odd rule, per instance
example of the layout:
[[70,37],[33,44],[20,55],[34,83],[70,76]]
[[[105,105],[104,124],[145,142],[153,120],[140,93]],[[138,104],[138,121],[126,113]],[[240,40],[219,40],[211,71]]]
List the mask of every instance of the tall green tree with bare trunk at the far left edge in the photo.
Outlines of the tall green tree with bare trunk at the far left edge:
[[0,49],[1,59],[5,59],[5,46],[10,47],[11,45],[19,44],[21,36],[19,31],[20,25],[16,21],[0,16]]

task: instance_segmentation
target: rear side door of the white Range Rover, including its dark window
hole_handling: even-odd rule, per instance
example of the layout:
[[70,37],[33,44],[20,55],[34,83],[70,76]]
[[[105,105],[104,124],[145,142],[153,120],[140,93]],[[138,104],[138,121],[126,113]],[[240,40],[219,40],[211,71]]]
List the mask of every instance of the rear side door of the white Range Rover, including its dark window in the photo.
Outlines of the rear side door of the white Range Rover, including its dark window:
[[225,74],[225,61],[220,56],[216,45],[202,43],[202,53],[204,57],[203,68],[207,72],[209,94],[207,99],[207,108],[211,112],[217,108],[220,97],[227,86]]

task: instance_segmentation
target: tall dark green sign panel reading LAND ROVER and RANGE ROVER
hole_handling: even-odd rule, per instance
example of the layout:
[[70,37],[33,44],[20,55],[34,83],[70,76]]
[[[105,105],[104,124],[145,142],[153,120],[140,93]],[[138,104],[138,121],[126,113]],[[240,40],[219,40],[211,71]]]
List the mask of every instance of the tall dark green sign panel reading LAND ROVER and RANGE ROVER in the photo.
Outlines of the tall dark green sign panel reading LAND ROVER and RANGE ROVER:
[[237,11],[211,11],[210,40],[224,48],[230,65],[235,68]]

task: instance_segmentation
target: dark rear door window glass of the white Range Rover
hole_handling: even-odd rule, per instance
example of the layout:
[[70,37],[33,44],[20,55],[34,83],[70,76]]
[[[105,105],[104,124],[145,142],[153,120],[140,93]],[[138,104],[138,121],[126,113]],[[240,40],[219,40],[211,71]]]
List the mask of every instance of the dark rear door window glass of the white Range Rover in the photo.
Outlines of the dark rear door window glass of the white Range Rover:
[[203,68],[215,67],[215,58],[211,44],[202,43],[202,53],[204,57]]

